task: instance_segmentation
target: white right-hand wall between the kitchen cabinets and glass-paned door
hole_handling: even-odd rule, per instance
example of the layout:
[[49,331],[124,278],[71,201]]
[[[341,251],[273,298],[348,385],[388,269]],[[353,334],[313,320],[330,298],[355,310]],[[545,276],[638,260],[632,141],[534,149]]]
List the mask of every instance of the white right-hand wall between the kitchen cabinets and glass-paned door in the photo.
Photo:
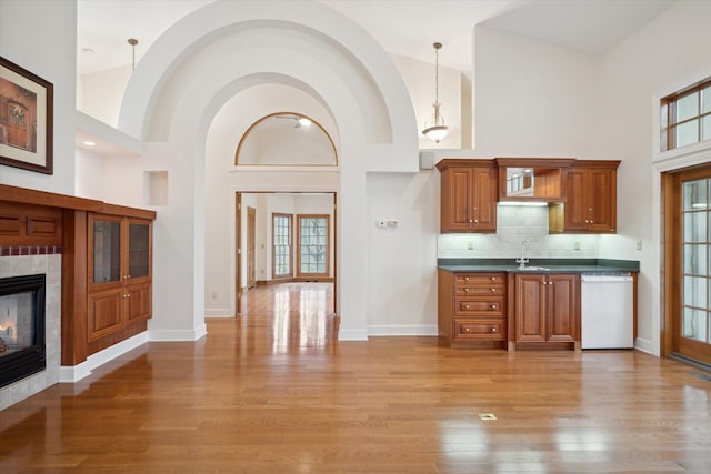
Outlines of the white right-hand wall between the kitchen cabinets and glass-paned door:
[[[660,90],[690,85],[711,74],[711,2],[680,1],[603,58],[601,141],[622,159],[618,181],[619,239],[602,239],[601,255],[640,260],[637,344],[659,352],[659,185],[652,163],[653,118]],[[668,90],[668,93],[674,89]],[[659,95],[658,95],[659,98]],[[673,164],[667,165],[672,167]],[[657,183],[657,184],[655,184]],[[632,251],[642,241],[642,251]]]

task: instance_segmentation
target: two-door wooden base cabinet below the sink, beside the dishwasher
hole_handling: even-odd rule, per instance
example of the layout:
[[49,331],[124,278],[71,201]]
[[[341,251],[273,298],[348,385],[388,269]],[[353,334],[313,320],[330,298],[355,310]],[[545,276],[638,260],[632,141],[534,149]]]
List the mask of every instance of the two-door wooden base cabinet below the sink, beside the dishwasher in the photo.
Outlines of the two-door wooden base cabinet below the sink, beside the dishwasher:
[[515,273],[509,293],[513,331],[509,349],[580,350],[580,275]]

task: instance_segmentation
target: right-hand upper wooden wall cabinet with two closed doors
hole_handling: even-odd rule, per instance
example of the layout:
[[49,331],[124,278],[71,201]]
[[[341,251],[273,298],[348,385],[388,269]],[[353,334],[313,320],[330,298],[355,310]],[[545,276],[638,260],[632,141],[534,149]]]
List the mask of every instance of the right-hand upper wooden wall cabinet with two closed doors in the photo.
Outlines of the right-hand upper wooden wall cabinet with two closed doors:
[[617,232],[617,160],[577,160],[563,171],[563,202],[549,208],[550,233]]

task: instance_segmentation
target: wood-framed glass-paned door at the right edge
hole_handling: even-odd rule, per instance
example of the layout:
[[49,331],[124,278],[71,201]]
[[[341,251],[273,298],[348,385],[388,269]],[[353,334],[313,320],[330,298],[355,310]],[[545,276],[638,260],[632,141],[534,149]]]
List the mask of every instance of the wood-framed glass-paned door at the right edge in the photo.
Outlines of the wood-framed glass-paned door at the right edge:
[[664,179],[671,353],[711,364],[711,165]]

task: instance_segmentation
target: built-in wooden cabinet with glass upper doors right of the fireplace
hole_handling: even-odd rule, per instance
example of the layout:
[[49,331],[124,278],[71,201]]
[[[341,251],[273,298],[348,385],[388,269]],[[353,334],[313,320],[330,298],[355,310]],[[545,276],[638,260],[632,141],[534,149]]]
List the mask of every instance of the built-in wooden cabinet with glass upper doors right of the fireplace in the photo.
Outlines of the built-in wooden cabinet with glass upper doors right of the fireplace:
[[88,341],[151,317],[150,220],[88,216]]

